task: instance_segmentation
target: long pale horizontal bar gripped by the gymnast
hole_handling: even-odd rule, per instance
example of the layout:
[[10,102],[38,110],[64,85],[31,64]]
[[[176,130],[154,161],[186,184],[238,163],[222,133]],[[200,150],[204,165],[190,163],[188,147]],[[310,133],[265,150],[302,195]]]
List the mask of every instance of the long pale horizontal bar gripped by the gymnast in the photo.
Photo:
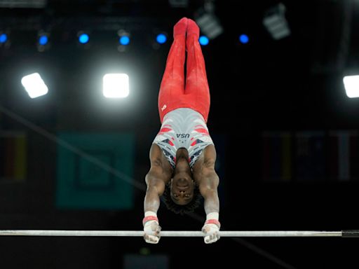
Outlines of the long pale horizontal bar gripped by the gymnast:
[[[355,230],[352,230],[355,231]],[[221,230],[221,237],[341,237],[345,231],[318,230]],[[126,236],[142,237],[143,230],[0,230],[0,235],[26,236]],[[196,230],[168,230],[161,231],[161,237],[203,237],[201,231]],[[351,233],[359,237],[358,232]]]

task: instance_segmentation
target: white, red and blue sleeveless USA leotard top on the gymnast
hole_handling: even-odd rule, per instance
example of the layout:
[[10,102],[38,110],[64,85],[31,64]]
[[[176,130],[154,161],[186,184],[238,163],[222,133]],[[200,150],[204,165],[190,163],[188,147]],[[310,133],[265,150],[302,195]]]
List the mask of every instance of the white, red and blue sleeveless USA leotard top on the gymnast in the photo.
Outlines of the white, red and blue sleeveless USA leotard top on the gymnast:
[[153,143],[162,149],[173,168],[177,149],[187,149],[192,168],[203,149],[213,144],[203,116],[193,109],[175,109],[165,114]]

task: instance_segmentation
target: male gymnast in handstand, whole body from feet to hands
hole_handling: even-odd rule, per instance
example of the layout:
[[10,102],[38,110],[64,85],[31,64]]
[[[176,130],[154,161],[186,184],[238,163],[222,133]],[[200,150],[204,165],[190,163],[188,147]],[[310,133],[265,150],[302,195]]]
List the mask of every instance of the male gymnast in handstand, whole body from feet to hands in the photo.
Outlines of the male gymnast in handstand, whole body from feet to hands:
[[[193,212],[204,199],[204,242],[219,240],[219,177],[216,151],[208,127],[210,91],[205,62],[198,43],[200,29],[194,20],[182,18],[173,27],[174,41],[168,53],[158,94],[161,129],[149,159],[144,198],[144,240],[157,244],[161,226],[157,217],[160,196],[177,214]],[[187,51],[187,77],[184,61]]]

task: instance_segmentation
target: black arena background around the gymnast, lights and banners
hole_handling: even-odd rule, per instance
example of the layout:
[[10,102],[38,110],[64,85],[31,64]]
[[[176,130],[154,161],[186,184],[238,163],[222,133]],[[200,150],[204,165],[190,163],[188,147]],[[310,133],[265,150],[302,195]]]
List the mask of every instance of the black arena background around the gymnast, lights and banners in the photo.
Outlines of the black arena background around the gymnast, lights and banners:
[[[342,78],[358,68],[357,1],[282,1],[290,36],[273,40],[262,24],[279,1],[215,1],[224,32],[203,46],[211,90],[208,127],[219,158],[222,230],[344,230],[359,227],[358,179],[310,177],[264,180],[264,132],[357,130],[358,99],[348,99]],[[194,18],[203,1],[173,8],[165,0],[49,0],[46,8],[0,8],[0,31],[11,44],[0,47],[0,105],[56,134],[133,132],[133,180],[144,186],[148,151],[158,132],[157,93],[172,27]],[[120,53],[113,31],[131,32]],[[39,29],[50,29],[51,46],[36,50]],[[90,46],[76,33],[91,33]],[[154,48],[151,36],[168,33]],[[116,31],[113,31],[116,32]],[[238,42],[246,33],[248,44]],[[100,70],[130,76],[127,99],[104,100]],[[20,79],[39,71],[50,92],[29,99]],[[0,229],[142,230],[144,192],[135,188],[131,210],[65,210],[55,206],[57,144],[6,113],[0,130],[28,135],[27,179],[0,184]],[[358,151],[358,149],[353,149]],[[358,163],[351,163],[356,167]],[[325,163],[325,171],[330,164]],[[200,230],[203,207],[176,216],[161,205],[163,230]],[[211,245],[201,238],[167,238],[146,244],[140,237],[1,237],[0,268],[125,268],[124,257],[165,255],[168,268],[356,268],[355,238],[224,237]],[[149,267],[157,268],[154,262]]]

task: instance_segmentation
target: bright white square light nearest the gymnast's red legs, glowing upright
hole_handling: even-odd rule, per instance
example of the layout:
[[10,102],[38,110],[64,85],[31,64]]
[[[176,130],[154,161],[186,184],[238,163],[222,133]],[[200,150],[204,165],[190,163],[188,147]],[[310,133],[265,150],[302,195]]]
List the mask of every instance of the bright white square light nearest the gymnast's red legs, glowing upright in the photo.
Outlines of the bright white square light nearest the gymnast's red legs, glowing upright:
[[102,94],[104,97],[124,98],[130,94],[127,74],[105,74],[102,82]]

